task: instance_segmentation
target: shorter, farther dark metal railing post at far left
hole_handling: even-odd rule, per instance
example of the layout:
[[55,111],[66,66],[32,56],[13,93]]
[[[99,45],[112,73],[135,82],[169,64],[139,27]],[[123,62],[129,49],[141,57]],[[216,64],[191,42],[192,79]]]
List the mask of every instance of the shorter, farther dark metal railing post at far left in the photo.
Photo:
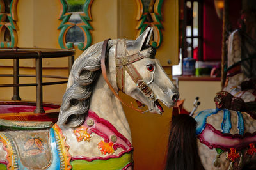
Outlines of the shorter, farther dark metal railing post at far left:
[[[13,59],[13,84],[19,84],[19,59]],[[21,100],[19,96],[19,86],[13,87],[12,100]]]

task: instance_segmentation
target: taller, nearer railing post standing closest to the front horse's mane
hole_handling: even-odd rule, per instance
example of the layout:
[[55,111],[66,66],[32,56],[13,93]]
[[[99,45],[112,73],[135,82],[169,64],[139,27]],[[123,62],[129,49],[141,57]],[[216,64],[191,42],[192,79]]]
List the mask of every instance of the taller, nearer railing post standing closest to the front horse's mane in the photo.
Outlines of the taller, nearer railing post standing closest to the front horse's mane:
[[44,113],[43,108],[43,86],[42,86],[42,55],[38,51],[36,58],[36,109],[34,113]]

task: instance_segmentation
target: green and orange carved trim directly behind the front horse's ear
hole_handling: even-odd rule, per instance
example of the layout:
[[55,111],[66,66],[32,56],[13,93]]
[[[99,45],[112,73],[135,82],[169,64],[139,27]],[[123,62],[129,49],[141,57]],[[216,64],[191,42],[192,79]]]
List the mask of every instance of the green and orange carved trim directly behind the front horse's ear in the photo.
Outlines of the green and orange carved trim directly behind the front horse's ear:
[[[163,29],[163,25],[161,23],[161,20],[163,20],[161,14],[163,1],[164,0],[152,0],[149,5],[149,12],[145,12],[143,0],[136,0],[138,7],[136,16],[138,25],[136,26],[136,29],[138,29],[138,33],[141,34],[148,26],[152,27],[154,35],[152,46],[156,48],[160,47],[163,40],[161,32],[161,29]],[[147,20],[148,17],[152,20]]]

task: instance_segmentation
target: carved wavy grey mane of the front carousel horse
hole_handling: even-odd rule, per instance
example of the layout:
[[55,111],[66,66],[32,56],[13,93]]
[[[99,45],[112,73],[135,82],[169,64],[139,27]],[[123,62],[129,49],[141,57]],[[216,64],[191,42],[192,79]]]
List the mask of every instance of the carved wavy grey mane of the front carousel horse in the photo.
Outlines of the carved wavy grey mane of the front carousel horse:
[[[116,44],[109,40],[108,49]],[[69,75],[67,89],[62,98],[58,125],[78,127],[84,122],[90,105],[93,82],[100,75],[100,56],[103,42],[96,43],[86,49],[76,59]]]

